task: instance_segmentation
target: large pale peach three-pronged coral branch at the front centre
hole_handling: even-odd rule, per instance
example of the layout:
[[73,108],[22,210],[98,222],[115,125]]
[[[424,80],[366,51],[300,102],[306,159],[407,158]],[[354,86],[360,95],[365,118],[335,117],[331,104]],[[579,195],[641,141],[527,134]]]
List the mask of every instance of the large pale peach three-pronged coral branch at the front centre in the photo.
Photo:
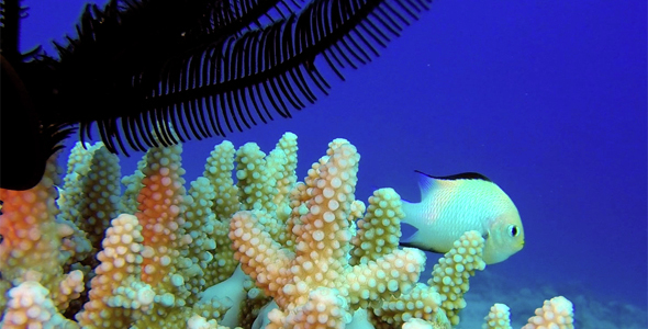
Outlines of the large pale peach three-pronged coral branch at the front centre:
[[292,195],[300,209],[293,218],[294,250],[267,230],[275,213],[245,211],[232,218],[236,259],[279,306],[269,315],[270,328],[344,326],[354,308],[409,291],[425,263],[418,250],[391,248],[376,260],[349,264],[359,155],[344,139],[332,141],[326,154],[309,171],[303,194]]

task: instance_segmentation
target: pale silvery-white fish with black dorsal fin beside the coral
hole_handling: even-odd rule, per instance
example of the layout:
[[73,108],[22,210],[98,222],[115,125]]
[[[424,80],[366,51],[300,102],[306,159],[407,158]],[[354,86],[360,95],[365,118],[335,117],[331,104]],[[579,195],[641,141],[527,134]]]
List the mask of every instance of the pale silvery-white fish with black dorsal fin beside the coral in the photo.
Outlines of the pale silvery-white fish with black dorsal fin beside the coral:
[[485,239],[483,260],[494,264],[524,247],[524,228],[515,204],[491,180],[477,172],[433,177],[417,171],[421,202],[403,201],[402,223],[417,229],[403,247],[448,252],[469,230]]

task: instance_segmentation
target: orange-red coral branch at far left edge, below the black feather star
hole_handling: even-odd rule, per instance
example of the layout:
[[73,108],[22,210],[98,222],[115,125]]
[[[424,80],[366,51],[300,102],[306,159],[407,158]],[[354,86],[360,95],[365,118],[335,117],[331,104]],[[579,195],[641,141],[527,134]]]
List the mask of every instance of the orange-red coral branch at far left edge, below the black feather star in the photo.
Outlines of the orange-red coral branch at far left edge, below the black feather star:
[[3,287],[38,282],[54,305],[66,309],[83,291],[83,273],[74,270],[66,274],[64,271],[70,253],[64,252],[63,240],[75,229],[55,219],[57,182],[54,160],[49,160],[45,178],[34,189],[0,190],[0,200],[4,202],[0,216],[0,269],[1,280],[9,283]]

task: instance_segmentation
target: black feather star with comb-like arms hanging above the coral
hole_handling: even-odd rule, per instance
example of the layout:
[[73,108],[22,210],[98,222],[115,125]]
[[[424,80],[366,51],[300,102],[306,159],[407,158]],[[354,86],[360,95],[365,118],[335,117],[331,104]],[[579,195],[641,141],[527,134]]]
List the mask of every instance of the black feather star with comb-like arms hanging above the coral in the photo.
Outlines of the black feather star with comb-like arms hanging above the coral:
[[431,1],[112,0],[86,7],[59,60],[18,52],[3,1],[0,186],[34,186],[77,125],[127,155],[290,117],[327,93],[321,66],[344,79]]

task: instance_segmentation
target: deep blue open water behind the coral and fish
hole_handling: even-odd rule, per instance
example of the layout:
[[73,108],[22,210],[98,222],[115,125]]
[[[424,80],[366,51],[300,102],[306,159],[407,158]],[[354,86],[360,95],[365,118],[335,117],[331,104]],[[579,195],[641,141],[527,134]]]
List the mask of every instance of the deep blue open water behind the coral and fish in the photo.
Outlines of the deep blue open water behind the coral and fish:
[[[21,50],[55,55],[51,41],[65,43],[88,2],[24,1]],[[328,97],[227,139],[268,151],[295,133],[303,178],[328,141],[347,138],[364,201],[383,186],[418,201],[414,170],[498,183],[526,245],[471,280],[458,328],[479,328],[493,303],[521,327],[556,295],[574,304],[577,328],[648,328],[646,5],[436,1],[373,63],[344,70],[346,81],[328,72]],[[220,140],[185,144],[188,181]],[[122,173],[141,156],[121,157]]]

